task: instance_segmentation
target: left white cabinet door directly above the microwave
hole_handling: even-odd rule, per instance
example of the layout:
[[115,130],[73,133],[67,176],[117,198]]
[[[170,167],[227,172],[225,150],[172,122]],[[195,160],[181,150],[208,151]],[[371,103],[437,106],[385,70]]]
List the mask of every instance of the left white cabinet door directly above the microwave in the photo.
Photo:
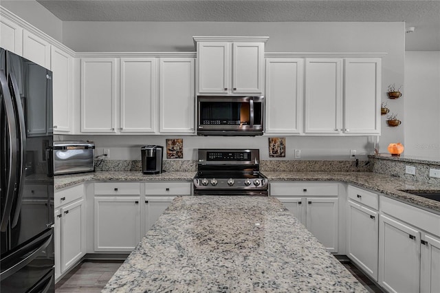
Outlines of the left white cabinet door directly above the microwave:
[[230,87],[230,43],[197,43],[199,94],[226,94]]

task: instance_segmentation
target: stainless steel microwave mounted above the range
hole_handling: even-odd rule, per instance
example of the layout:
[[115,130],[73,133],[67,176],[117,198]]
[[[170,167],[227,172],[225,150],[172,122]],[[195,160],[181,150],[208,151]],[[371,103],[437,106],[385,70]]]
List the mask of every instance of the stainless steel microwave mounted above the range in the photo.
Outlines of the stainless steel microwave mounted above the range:
[[263,135],[263,96],[197,96],[197,135]]

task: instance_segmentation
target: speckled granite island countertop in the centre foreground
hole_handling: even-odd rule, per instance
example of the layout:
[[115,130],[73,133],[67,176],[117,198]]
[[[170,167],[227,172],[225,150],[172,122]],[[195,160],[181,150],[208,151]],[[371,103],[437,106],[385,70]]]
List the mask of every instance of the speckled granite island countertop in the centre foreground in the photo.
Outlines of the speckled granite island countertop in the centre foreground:
[[102,292],[367,292],[274,197],[176,197]]

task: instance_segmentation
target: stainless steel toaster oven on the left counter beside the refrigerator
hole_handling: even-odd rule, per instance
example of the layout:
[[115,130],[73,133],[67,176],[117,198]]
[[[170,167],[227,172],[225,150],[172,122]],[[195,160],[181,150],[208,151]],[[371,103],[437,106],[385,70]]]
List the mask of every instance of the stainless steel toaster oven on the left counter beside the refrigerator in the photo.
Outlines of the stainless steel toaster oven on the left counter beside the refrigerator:
[[54,142],[54,175],[95,171],[94,142]]

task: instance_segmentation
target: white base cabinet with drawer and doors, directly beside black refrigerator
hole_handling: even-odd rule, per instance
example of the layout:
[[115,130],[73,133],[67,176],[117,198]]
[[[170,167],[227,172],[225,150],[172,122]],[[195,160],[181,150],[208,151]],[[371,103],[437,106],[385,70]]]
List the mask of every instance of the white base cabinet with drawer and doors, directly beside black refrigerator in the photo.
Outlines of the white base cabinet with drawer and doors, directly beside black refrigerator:
[[[55,193],[55,279],[85,255],[85,201],[83,185]],[[61,198],[66,203],[57,204]]]

